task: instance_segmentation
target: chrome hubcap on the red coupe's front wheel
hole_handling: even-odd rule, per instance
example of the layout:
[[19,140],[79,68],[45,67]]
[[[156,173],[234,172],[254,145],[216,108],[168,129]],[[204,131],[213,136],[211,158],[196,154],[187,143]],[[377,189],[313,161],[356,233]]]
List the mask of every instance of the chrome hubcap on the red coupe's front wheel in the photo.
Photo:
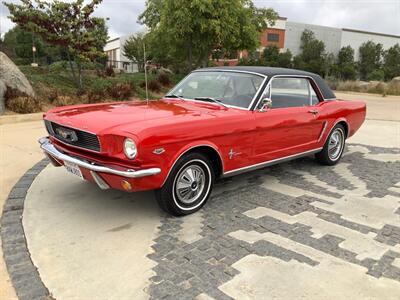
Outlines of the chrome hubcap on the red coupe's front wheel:
[[200,197],[204,186],[205,173],[203,169],[196,165],[188,166],[183,169],[176,180],[176,196],[182,203],[191,204]]

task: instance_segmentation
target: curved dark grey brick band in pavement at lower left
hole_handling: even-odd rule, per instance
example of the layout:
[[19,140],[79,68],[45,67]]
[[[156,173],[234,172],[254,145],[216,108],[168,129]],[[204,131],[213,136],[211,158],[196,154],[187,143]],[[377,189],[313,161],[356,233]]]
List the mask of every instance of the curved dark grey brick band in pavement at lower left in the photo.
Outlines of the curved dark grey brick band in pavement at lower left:
[[0,219],[4,261],[20,300],[52,299],[31,260],[22,226],[27,191],[48,163],[48,159],[41,160],[19,179],[8,195]]

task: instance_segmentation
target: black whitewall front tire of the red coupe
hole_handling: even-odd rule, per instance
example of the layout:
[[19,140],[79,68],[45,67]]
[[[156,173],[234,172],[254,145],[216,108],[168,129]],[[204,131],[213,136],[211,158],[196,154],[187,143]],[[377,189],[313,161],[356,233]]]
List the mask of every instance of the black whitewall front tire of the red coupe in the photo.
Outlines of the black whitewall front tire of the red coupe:
[[[188,174],[185,172],[187,170],[191,170],[191,172],[195,170],[195,172],[201,174],[200,178],[203,178],[199,179],[196,185],[196,180],[193,180],[193,182],[190,183],[190,195],[196,192],[196,190],[194,190],[194,187],[197,187],[197,189],[199,189],[198,194],[191,198],[194,200],[191,203],[182,202],[184,200],[180,200],[180,198],[184,198],[182,197],[183,193],[178,194],[177,191],[177,181],[179,179],[184,180],[188,178],[187,176],[185,176],[185,174]],[[194,173],[191,174],[193,175]],[[184,216],[192,214],[198,211],[207,202],[211,194],[212,187],[214,185],[214,179],[214,169],[210,160],[205,155],[198,152],[186,154],[177,161],[164,185],[160,189],[156,190],[158,205],[161,207],[161,209],[174,216]],[[182,183],[182,181],[180,182]],[[182,190],[186,189],[187,187],[182,188]],[[188,199],[187,201],[191,199]]]

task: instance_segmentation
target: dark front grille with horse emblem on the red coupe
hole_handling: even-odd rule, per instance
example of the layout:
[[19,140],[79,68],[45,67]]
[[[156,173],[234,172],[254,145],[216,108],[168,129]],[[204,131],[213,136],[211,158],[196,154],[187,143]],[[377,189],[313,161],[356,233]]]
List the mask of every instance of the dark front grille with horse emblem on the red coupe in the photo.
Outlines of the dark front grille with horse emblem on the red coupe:
[[[44,121],[47,132],[58,139],[59,141],[79,148],[84,148],[96,152],[100,152],[100,141],[97,135],[93,133],[89,133],[83,130],[59,125],[54,122],[50,122],[48,120]],[[70,139],[69,137],[65,137],[59,134],[61,131],[68,131],[73,133],[74,139]]]

